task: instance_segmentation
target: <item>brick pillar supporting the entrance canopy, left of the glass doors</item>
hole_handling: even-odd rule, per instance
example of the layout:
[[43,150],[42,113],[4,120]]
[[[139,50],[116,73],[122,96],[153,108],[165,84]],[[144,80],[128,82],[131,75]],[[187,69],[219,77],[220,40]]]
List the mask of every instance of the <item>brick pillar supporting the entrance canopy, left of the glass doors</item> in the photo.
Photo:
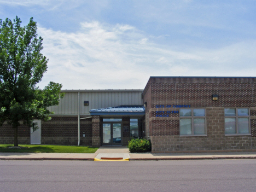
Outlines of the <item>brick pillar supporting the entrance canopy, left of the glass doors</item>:
[[92,115],[92,147],[101,146],[100,115]]

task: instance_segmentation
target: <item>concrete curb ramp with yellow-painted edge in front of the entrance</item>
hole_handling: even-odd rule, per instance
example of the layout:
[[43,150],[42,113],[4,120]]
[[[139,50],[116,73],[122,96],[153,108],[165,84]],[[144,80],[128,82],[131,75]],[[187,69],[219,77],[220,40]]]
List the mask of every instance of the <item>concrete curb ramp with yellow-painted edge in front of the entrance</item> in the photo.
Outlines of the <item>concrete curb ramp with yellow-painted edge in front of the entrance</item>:
[[95,161],[129,161],[130,155],[128,153],[99,153]]

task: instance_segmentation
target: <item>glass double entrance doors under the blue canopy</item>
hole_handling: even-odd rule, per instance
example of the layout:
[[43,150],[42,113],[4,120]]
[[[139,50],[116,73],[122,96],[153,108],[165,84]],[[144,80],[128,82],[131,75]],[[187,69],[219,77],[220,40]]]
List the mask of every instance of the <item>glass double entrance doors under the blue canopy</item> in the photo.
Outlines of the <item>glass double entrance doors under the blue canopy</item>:
[[121,123],[102,124],[102,146],[121,146]]

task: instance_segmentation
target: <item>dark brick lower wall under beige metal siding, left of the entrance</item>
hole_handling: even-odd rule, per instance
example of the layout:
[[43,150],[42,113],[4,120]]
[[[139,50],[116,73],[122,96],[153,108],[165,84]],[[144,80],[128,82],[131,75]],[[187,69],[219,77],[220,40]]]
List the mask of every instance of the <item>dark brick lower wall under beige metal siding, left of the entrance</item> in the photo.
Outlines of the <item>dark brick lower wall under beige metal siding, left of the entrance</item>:
[[[83,118],[83,116],[81,117]],[[85,137],[83,137],[85,134]],[[18,127],[19,144],[30,144],[30,127]],[[7,123],[0,127],[0,144],[13,144],[14,129]],[[78,144],[78,118],[58,115],[50,121],[42,121],[42,144]],[[92,145],[92,119],[80,120],[80,145]]]

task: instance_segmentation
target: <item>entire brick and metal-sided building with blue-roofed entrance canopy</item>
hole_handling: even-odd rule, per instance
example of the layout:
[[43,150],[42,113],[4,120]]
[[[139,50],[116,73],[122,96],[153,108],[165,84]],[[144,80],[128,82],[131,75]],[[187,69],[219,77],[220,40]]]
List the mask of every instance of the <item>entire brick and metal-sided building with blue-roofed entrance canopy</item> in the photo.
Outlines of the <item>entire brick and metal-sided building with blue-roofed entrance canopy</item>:
[[[39,136],[21,126],[19,143],[125,146],[145,137],[155,153],[252,151],[255,85],[254,77],[150,77],[144,90],[63,90]],[[4,124],[0,143],[12,137]]]

